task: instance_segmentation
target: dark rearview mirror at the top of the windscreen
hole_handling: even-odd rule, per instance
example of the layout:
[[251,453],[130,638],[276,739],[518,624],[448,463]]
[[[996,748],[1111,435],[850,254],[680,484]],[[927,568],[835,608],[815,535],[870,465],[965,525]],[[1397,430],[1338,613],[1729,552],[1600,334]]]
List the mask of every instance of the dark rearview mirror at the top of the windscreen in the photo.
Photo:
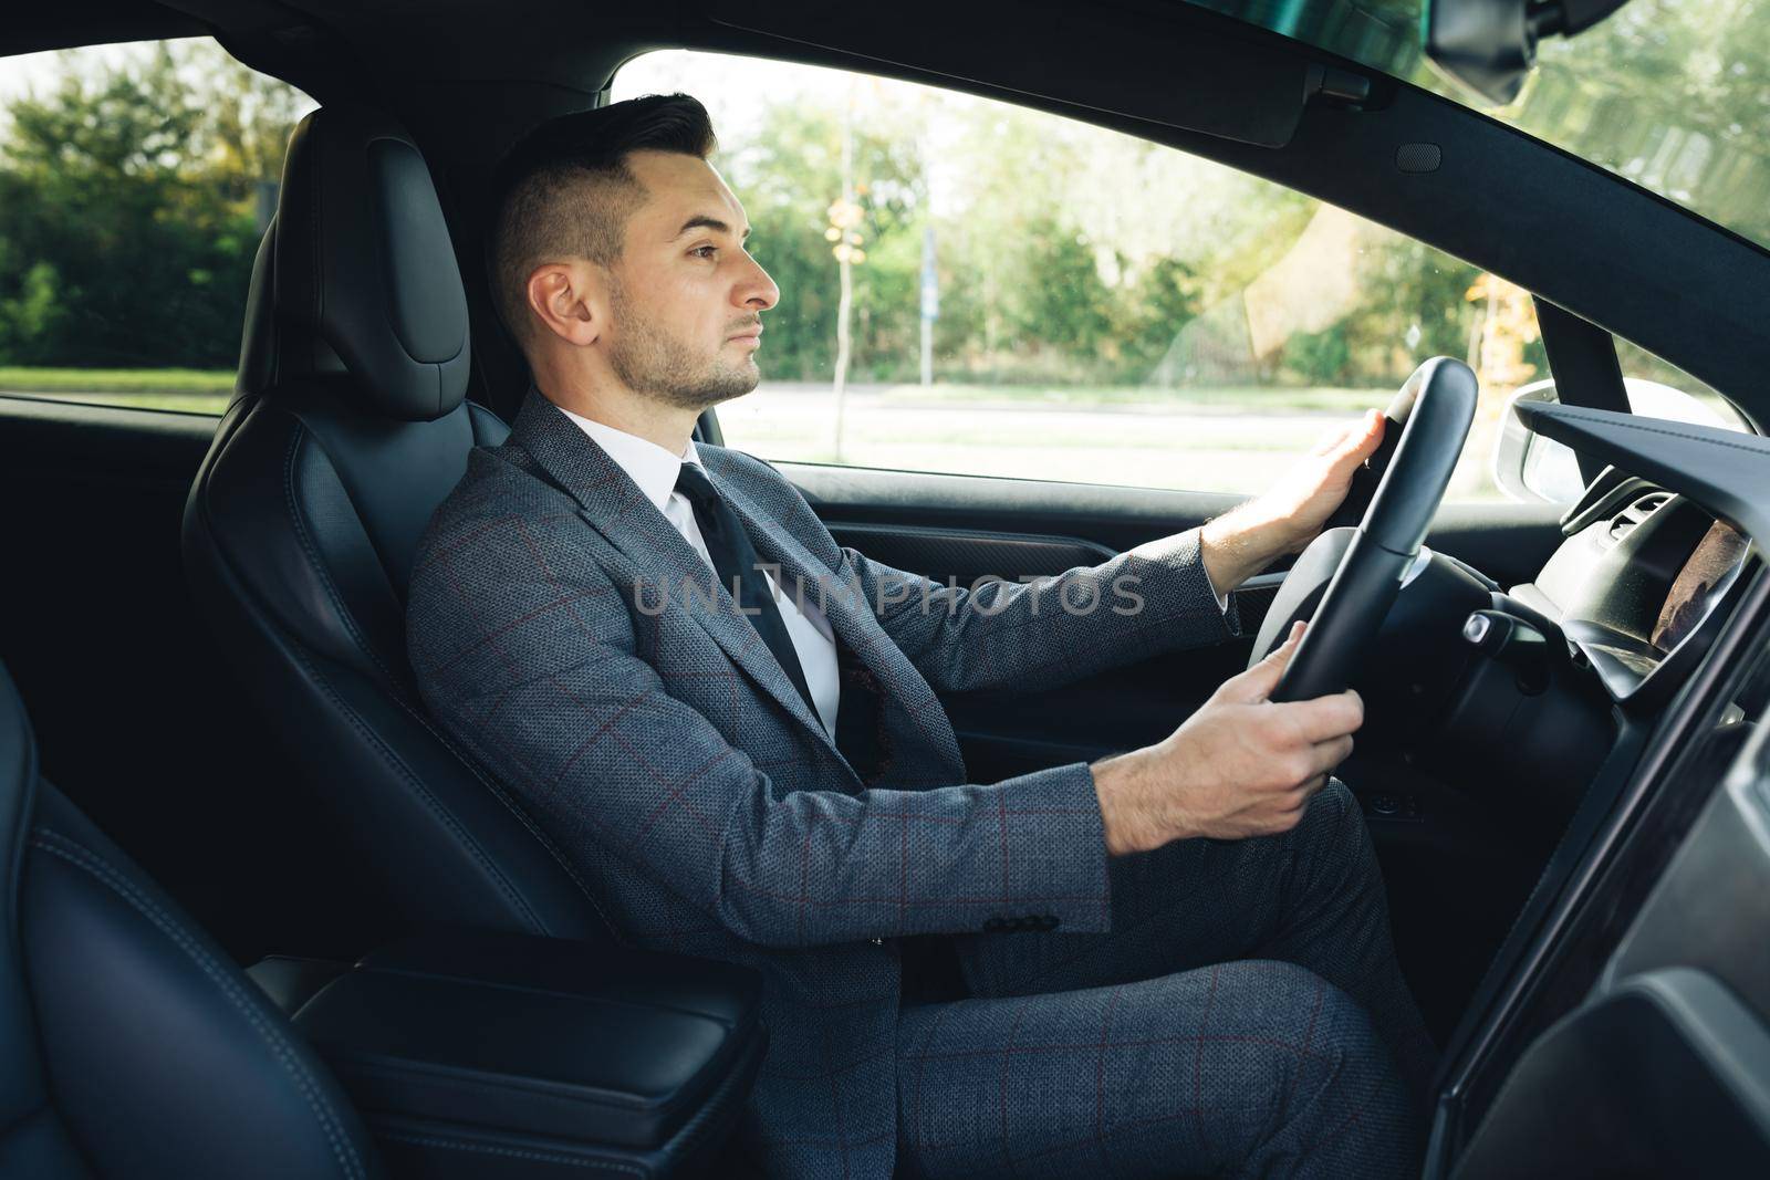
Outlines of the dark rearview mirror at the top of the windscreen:
[[1427,0],[1425,53],[1489,103],[1519,97],[1543,37],[1581,34],[1628,0]]

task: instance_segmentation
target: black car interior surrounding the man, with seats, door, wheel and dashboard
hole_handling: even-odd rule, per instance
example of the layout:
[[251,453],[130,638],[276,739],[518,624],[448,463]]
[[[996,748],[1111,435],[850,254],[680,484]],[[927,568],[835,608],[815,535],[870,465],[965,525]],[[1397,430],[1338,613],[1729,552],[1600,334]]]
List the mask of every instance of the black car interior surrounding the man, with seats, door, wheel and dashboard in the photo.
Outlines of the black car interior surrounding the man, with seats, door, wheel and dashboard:
[[[1554,396],[1510,407],[1508,444],[1572,451],[1572,506],[1441,502],[1474,373],[1418,356],[1336,527],[1235,591],[1235,642],[943,704],[974,782],[1092,761],[1313,619],[1294,688],[1365,693],[1340,775],[1446,1051],[1423,1175],[1770,1164],[1770,255],[1246,7],[16,5],[0,55],[209,35],[319,110],[219,421],[0,396],[0,1175],[749,1175],[759,977],[630,946],[430,720],[404,642],[425,524],[527,387],[492,172],[660,48],[1126,131],[1531,292]],[[1614,340],[1743,430],[1632,414]],[[938,582],[1096,564],[1237,501],[777,467],[839,543]],[[901,954],[958,985],[938,938]]]

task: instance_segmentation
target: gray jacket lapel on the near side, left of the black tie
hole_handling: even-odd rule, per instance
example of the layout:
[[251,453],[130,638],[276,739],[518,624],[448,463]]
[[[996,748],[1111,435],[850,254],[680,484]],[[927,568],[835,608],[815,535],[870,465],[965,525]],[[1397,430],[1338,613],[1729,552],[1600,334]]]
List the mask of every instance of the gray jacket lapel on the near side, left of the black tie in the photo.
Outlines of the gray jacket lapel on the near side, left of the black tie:
[[[600,533],[630,563],[634,589],[641,594],[641,603],[657,609],[660,594],[667,594],[671,609],[681,609],[683,587],[689,582],[706,589],[715,587],[717,601],[708,607],[696,601],[685,610],[731,662],[772,695],[802,725],[835,750],[832,736],[823,729],[823,722],[811,711],[805,699],[798,695],[791,678],[781,662],[768,651],[756,628],[738,614],[731,600],[729,587],[717,586],[719,579],[701,559],[701,554],[689,545],[687,538],[644,497],[628,474],[609,458],[609,453],[596,446],[577,425],[559,412],[552,402],[538,389],[529,389],[517,412],[517,421],[510,426],[510,441],[527,451],[547,476],[563,488],[581,508],[581,517]],[[719,481],[722,494],[731,492],[729,485]],[[745,515],[745,527],[756,550],[775,561],[775,552],[763,545],[763,536],[770,533],[758,527],[750,513]],[[857,647],[858,651],[858,647]],[[837,752],[841,757],[841,752]],[[846,764],[846,759],[844,759]]]

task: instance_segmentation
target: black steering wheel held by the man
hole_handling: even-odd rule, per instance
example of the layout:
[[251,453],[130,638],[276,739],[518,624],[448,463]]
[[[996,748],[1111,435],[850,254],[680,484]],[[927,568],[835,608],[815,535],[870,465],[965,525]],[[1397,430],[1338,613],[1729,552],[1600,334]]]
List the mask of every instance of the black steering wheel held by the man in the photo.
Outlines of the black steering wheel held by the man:
[[[1420,543],[1474,421],[1474,372],[1451,357],[1414,370],[1384,410],[1384,446],[1372,456],[1377,488],[1358,527],[1328,529],[1285,575],[1266,612],[1248,667],[1267,656],[1297,619],[1310,619],[1273,701],[1343,690],[1377,639],[1389,605],[1430,550]],[[1386,469],[1382,451],[1388,451]],[[1366,460],[1370,462],[1370,460]]]

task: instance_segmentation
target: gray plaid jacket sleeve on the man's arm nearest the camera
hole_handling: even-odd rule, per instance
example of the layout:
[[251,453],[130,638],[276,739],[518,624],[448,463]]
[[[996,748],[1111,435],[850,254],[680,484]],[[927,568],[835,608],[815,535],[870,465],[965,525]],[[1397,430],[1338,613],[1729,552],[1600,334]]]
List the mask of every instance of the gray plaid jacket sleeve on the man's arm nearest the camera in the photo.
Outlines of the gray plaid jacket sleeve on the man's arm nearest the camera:
[[581,536],[547,545],[503,524],[427,543],[412,669],[439,722],[573,856],[616,856],[773,946],[975,932],[1004,916],[1110,927],[1085,764],[993,785],[784,791],[758,766],[773,752],[735,748],[667,692]]

